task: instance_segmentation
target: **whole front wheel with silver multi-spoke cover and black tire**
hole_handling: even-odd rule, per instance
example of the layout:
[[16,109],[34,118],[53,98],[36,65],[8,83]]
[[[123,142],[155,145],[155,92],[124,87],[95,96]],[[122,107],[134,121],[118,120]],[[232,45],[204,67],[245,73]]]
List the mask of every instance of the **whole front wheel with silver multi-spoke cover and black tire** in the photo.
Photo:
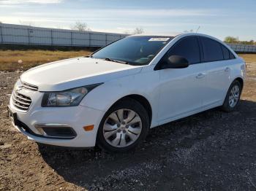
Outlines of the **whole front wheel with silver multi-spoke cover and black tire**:
[[146,138],[149,119],[146,109],[133,99],[118,101],[99,125],[97,144],[110,152],[126,152]]

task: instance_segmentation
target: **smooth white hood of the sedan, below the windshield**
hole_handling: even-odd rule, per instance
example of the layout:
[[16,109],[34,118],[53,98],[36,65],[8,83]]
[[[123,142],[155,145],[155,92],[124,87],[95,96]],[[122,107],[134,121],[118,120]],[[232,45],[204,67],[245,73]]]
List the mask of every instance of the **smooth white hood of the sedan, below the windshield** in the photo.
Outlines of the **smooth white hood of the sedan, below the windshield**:
[[141,68],[95,58],[71,58],[29,69],[20,79],[37,85],[39,91],[61,91],[136,74]]

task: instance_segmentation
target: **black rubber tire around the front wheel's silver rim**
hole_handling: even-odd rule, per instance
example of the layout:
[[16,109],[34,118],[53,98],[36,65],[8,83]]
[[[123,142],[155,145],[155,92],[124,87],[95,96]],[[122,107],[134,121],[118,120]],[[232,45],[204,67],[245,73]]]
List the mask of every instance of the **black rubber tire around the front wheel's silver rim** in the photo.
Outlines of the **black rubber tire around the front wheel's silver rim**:
[[[139,115],[142,124],[141,132],[138,139],[134,143],[129,144],[127,147],[113,147],[112,145],[108,144],[108,141],[105,140],[103,134],[103,126],[105,124],[105,120],[107,120],[110,114],[117,111],[118,109],[131,109],[132,111],[136,112]],[[149,117],[146,109],[138,101],[135,101],[132,98],[124,98],[111,106],[111,108],[108,110],[108,112],[105,113],[104,117],[102,118],[97,133],[97,146],[108,152],[127,152],[137,147],[140,142],[146,139],[148,129]]]

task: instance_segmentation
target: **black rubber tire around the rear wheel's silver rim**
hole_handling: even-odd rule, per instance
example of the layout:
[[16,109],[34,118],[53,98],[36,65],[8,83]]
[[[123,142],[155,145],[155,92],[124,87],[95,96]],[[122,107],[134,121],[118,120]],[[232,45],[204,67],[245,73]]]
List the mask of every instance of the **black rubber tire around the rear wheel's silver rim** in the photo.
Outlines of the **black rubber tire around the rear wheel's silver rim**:
[[[230,92],[231,92],[232,88],[233,88],[234,86],[236,86],[236,85],[238,85],[238,87],[239,87],[239,97],[238,97],[238,101],[237,101],[237,103],[236,103],[235,106],[230,106],[230,104],[229,104]],[[230,85],[230,87],[228,88],[228,90],[227,90],[227,95],[226,95],[225,101],[224,101],[224,103],[223,103],[223,105],[222,105],[222,110],[225,111],[225,112],[232,112],[234,109],[236,109],[236,107],[238,106],[239,101],[240,101],[241,92],[242,92],[242,85],[241,85],[241,83],[238,82],[238,80],[234,80],[234,81],[232,82],[232,84]]]

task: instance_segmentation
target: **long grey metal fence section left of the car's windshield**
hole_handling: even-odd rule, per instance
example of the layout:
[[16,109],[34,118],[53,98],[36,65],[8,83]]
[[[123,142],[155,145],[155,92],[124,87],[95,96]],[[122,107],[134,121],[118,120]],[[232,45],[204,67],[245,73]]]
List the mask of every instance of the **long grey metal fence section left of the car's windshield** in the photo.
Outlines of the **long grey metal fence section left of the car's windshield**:
[[0,23],[0,44],[102,47],[124,36],[127,35]]

